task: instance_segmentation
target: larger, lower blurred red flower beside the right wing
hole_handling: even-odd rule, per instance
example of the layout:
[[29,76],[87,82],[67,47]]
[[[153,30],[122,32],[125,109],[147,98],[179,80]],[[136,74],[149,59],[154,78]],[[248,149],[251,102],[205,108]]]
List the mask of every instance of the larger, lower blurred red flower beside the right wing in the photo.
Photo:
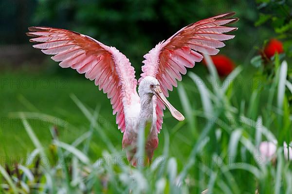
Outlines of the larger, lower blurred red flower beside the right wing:
[[[218,54],[211,56],[211,59],[218,71],[219,76],[227,76],[233,71],[235,67],[234,62],[225,55]],[[203,61],[203,64],[206,65],[205,60]]]

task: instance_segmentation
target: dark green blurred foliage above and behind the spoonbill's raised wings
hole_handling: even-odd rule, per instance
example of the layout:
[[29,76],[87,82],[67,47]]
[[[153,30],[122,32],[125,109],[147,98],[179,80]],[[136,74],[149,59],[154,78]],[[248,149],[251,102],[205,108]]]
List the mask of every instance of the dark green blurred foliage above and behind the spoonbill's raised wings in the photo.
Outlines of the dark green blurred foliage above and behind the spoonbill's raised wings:
[[[24,44],[24,48],[17,48],[18,52],[23,49],[33,52],[24,33],[28,26],[69,29],[116,47],[130,59],[140,75],[143,55],[158,42],[190,23],[235,11],[240,18],[236,24],[239,30],[234,32],[237,38],[229,41],[221,53],[247,65],[254,48],[260,48],[263,41],[274,34],[269,25],[255,27],[259,18],[257,7],[258,3],[251,0],[2,1],[1,45]],[[23,60],[18,62],[23,63]]]

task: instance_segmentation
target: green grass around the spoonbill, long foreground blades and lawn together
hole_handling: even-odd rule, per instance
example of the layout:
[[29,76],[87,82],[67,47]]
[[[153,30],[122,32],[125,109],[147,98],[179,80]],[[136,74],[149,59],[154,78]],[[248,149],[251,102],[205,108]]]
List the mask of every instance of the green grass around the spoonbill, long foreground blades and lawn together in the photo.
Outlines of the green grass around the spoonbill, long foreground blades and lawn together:
[[[211,62],[208,65],[213,69]],[[239,66],[225,81],[211,72],[189,72],[179,89],[170,93],[169,101],[186,119],[177,122],[164,112],[155,160],[138,168],[126,162],[117,126],[101,122],[100,118],[114,120],[114,116],[109,100],[92,82],[70,78],[66,88],[1,88],[5,94],[0,96],[5,102],[1,117],[20,119],[17,127],[1,126],[1,156],[39,158],[29,164],[20,160],[25,165],[18,167],[9,161],[10,170],[1,163],[3,192],[291,193],[291,162],[284,159],[282,146],[291,142],[292,127],[287,65],[276,59],[271,75]],[[11,73],[3,77],[61,79]],[[63,119],[66,125],[59,124],[57,130],[54,122],[42,126],[39,120],[44,117]],[[258,145],[273,139],[278,142],[277,162],[265,163]],[[143,142],[140,135],[139,155]]]

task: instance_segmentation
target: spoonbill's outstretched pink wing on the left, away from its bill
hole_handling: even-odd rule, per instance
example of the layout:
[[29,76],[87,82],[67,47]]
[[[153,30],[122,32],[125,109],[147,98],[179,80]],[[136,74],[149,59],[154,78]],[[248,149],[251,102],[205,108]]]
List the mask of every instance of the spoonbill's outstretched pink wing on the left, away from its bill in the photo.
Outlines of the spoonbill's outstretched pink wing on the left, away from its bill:
[[60,62],[63,68],[71,67],[85,77],[94,80],[99,90],[110,98],[116,123],[122,132],[126,129],[125,116],[133,103],[139,103],[136,91],[135,71],[129,60],[119,50],[108,47],[93,38],[63,29],[30,27],[31,42],[40,43],[34,48]]

